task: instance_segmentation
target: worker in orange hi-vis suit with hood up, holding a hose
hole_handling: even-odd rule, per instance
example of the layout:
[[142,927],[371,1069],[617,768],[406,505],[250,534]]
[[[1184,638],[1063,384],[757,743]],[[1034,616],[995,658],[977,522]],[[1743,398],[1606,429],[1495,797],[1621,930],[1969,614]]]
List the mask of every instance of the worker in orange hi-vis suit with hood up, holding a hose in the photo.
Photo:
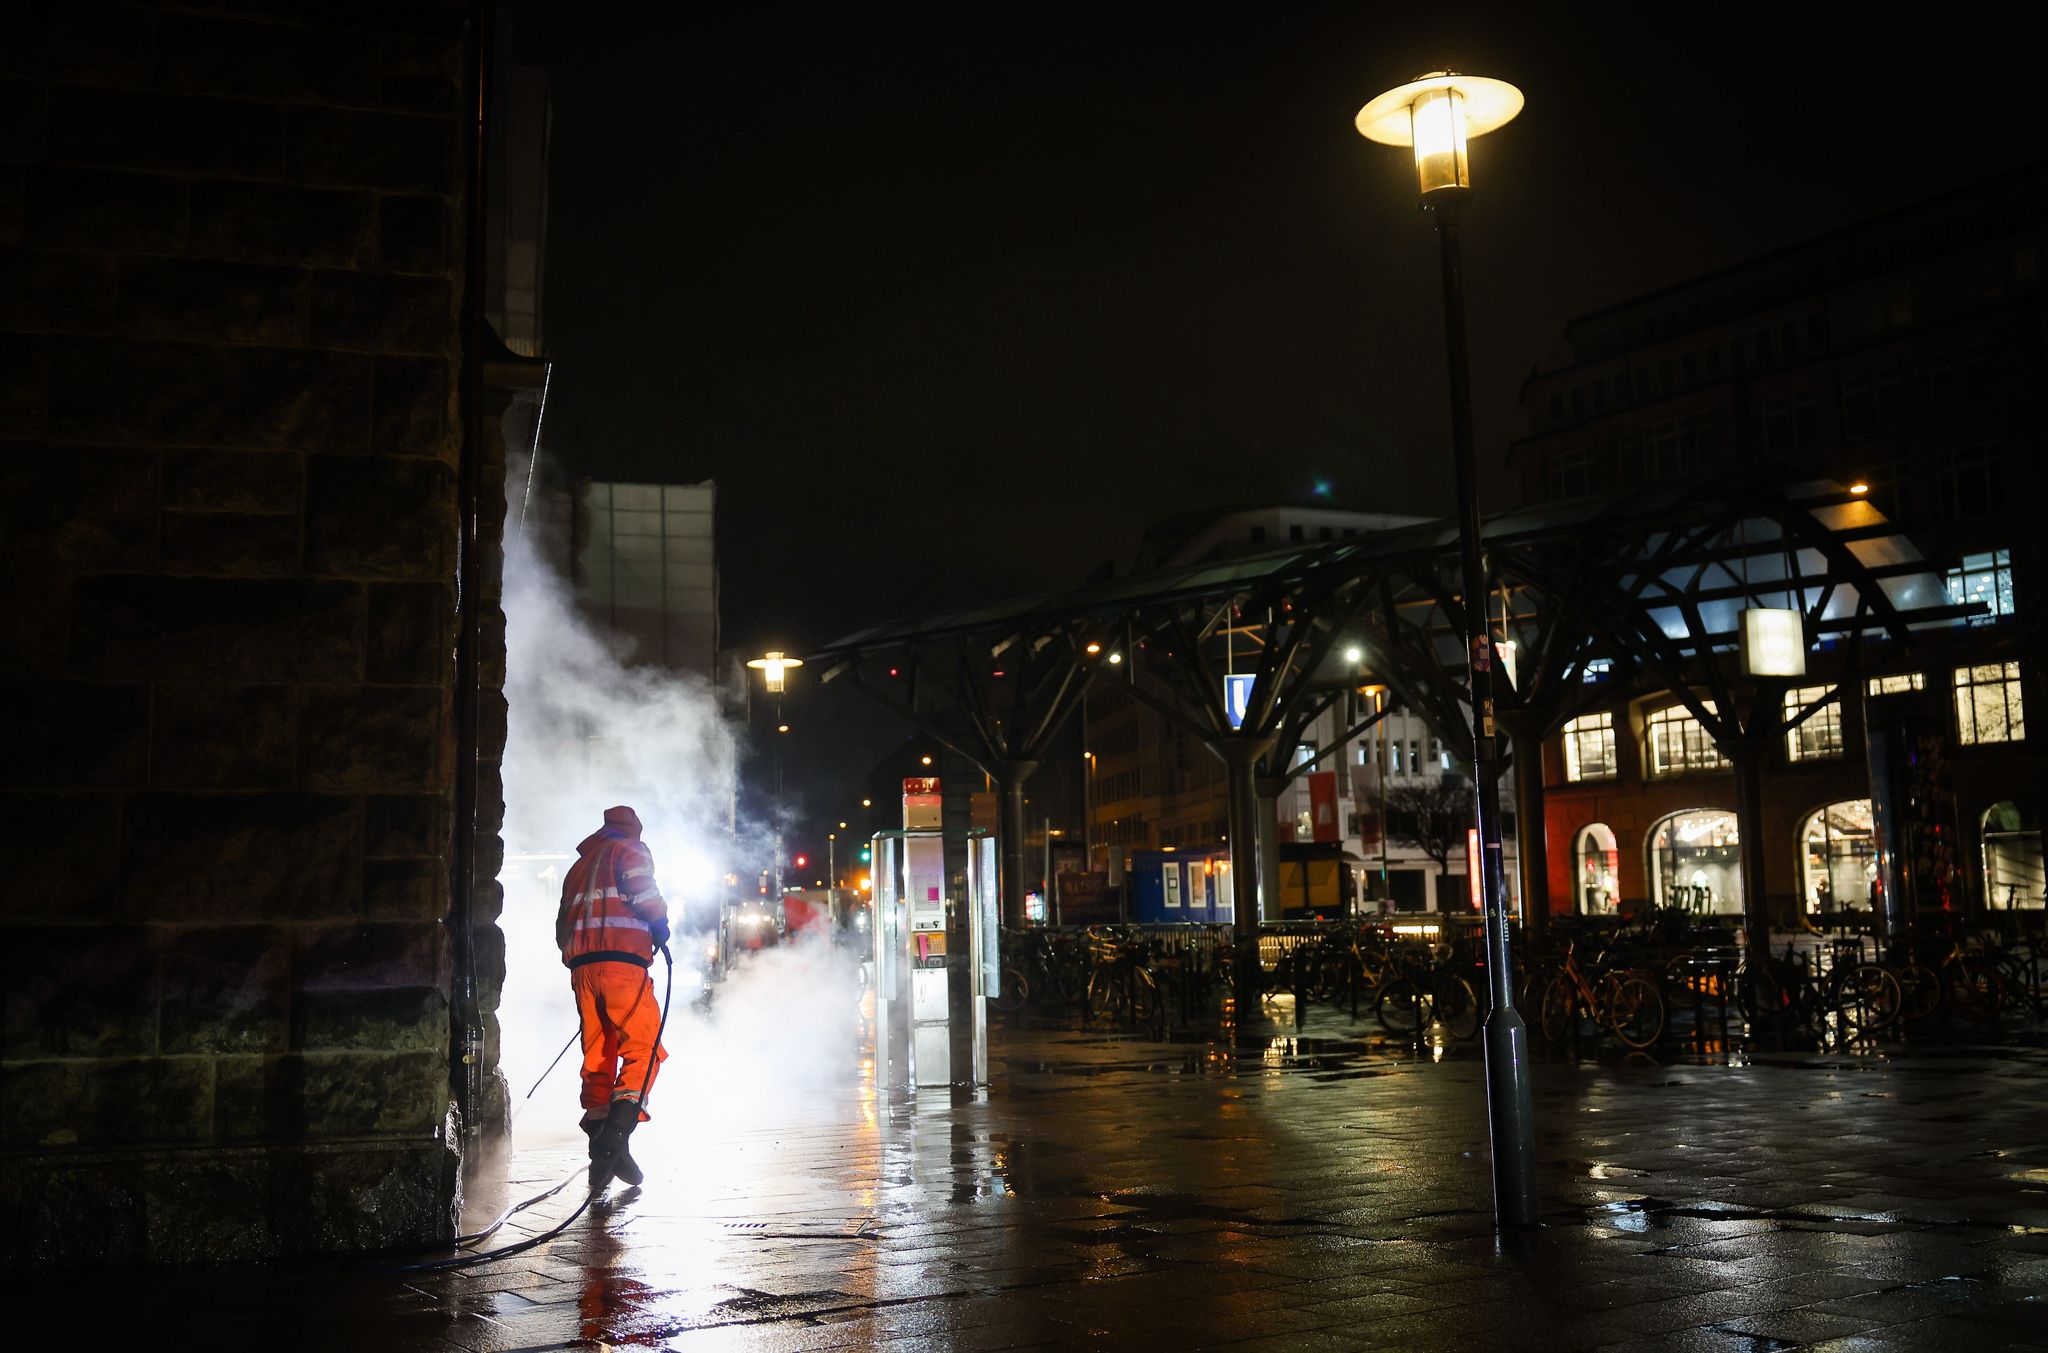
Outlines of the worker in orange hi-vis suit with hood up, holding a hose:
[[657,1046],[662,1009],[647,968],[668,946],[668,903],[653,882],[653,856],[639,839],[639,815],[621,804],[575,847],[561,880],[555,944],[569,968],[584,1032],[584,1132],[590,1136],[590,1189],[612,1175],[641,1181],[627,1150],[647,1122],[643,1099],[668,1058]]

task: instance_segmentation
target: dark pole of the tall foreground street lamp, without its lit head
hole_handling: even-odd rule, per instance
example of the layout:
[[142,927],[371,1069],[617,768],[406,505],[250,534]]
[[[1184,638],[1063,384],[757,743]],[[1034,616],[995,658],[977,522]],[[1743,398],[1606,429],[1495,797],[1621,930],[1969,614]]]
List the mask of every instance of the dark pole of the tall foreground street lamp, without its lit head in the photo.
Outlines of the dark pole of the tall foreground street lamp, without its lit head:
[[1458,199],[1427,203],[1444,258],[1444,356],[1450,366],[1450,442],[1458,473],[1458,563],[1466,671],[1473,706],[1473,815],[1487,899],[1487,1130],[1493,1142],[1493,1218],[1536,1224],[1536,1134],[1530,1105],[1530,1040],[1516,1013],[1507,958],[1507,872],[1501,860],[1501,768],[1493,721],[1493,637],[1487,573],[1479,559],[1479,471],[1473,452],[1473,379],[1464,346],[1464,264],[1458,256]]

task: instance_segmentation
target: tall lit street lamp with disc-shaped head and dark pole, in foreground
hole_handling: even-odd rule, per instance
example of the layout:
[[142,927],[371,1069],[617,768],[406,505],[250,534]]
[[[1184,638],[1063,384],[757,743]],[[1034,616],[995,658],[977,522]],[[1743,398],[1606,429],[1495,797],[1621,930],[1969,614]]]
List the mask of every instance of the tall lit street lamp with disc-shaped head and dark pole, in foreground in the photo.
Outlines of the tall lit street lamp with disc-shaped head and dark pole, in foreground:
[[1444,356],[1450,368],[1450,442],[1458,479],[1458,563],[1464,594],[1466,673],[1473,708],[1473,813],[1487,901],[1487,1126],[1493,1142],[1493,1216],[1536,1224],[1536,1138],[1530,1107],[1528,1028],[1516,1013],[1507,960],[1507,872],[1501,860],[1501,763],[1493,723],[1493,635],[1479,557],[1479,473],[1473,454],[1473,381],[1464,350],[1464,266],[1458,213],[1470,194],[1466,143],[1522,111],[1505,80],[1432,72],[1358,111],[1358,131],[1382,145],[1411,145],[1421,205],[1436,221],[1444,262]]

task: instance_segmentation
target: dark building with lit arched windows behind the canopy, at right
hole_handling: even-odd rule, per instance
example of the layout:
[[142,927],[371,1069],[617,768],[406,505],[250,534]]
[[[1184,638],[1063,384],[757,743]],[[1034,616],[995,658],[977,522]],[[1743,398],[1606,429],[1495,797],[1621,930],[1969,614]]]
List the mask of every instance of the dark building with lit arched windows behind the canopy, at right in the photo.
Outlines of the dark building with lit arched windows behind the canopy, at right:
[[1843,698],[1776,749],[1763,841],[1737,839],[1726,759],[1671,692],[1618,690],[1575,718],[1542,757],[1554,911],[1741,911],[1743,849],[1767,852],[1780,917],[1868,907],[1866,729],[1898,708],[1942,739],[1956,905],[2042,907],[2025,706],[2048,698],[2044,250],[2048,170],[2030,168],[1567,325],[1569,360],[1524,387],[1526,501],[1731,471],[1862,485],[1950,600],[1987,614],[1911,653],[1866,645]]

